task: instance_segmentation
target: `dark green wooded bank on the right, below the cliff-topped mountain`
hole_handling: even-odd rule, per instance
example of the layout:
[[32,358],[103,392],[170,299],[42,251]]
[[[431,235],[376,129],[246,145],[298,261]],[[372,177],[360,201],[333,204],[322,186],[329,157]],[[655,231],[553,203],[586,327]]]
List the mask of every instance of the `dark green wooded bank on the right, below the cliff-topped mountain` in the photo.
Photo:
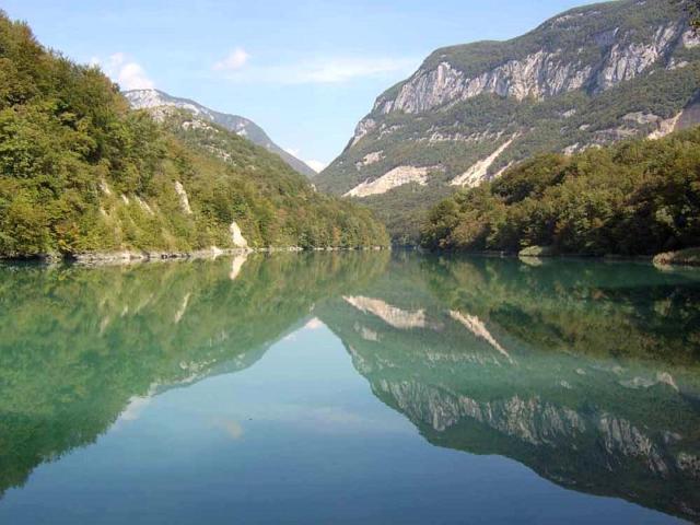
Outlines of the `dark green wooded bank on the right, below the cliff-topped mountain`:
[[700,128],[571,158],[535,158],[433,208],[421,242],[438,249],[552,246],[586,255],[700,245]]

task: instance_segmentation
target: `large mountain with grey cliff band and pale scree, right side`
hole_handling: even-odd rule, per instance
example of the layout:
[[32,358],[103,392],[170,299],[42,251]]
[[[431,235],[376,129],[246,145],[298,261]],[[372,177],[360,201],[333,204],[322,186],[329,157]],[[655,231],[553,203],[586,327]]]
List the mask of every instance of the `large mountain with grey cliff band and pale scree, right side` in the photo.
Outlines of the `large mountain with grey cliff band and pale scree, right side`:
[[395,238],[422,211],[539,152],[571,154],[700,121],[700,38],[674,0],[574,9],[508,42],[434,51],[376,100],[314,182],[362,199]]

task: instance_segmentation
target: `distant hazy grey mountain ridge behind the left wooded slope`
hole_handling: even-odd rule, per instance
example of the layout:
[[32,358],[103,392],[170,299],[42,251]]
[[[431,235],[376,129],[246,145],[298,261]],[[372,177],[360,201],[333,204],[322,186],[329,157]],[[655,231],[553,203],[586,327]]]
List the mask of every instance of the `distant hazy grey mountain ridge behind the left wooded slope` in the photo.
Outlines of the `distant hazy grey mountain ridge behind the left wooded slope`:
[[229,115],[225,113],[214,112],[201,104],[190,101],[188,98],[178,98],[176,96],[168,95],[160,90],[130,90],[124,92],[124,96],[127,97],[131,107],[135,109],[145,109],[158,106],[175,106],[188,112],[194,113],[199,117],[203,117],[218,124],[222,128],[226,128],[230,131],[234,131],[241,137],[245,137],[250,142],[261,145],[266,150],[282,158],[282,160],[296,170],[302,175],[306,175],[312,178],[316,176],[316,172],[312,170],[305,162],[300,161],[294,155],[288,153],[282,148],[272,142],[267,133],[253,120],[238,115]]

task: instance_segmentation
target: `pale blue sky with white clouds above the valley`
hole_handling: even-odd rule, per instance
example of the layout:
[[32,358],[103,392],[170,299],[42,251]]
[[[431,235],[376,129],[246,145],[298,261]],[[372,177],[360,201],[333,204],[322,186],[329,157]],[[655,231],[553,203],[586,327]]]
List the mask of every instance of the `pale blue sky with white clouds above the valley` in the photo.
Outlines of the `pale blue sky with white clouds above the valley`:
[[39,40],[243,115],[316,165],[438,47],[517,36],[583,0],[4,0]]

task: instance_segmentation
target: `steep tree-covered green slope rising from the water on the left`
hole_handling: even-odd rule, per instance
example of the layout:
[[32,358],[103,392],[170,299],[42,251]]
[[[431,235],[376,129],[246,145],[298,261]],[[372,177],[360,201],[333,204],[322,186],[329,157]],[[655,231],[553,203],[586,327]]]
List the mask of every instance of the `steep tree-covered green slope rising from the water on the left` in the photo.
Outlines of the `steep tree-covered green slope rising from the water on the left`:
[[385,243],[366,210],[279,156],[207,122],[214,151],[187,112],[130,109],[98,69],[4,15],[0,62],[0,257]]

